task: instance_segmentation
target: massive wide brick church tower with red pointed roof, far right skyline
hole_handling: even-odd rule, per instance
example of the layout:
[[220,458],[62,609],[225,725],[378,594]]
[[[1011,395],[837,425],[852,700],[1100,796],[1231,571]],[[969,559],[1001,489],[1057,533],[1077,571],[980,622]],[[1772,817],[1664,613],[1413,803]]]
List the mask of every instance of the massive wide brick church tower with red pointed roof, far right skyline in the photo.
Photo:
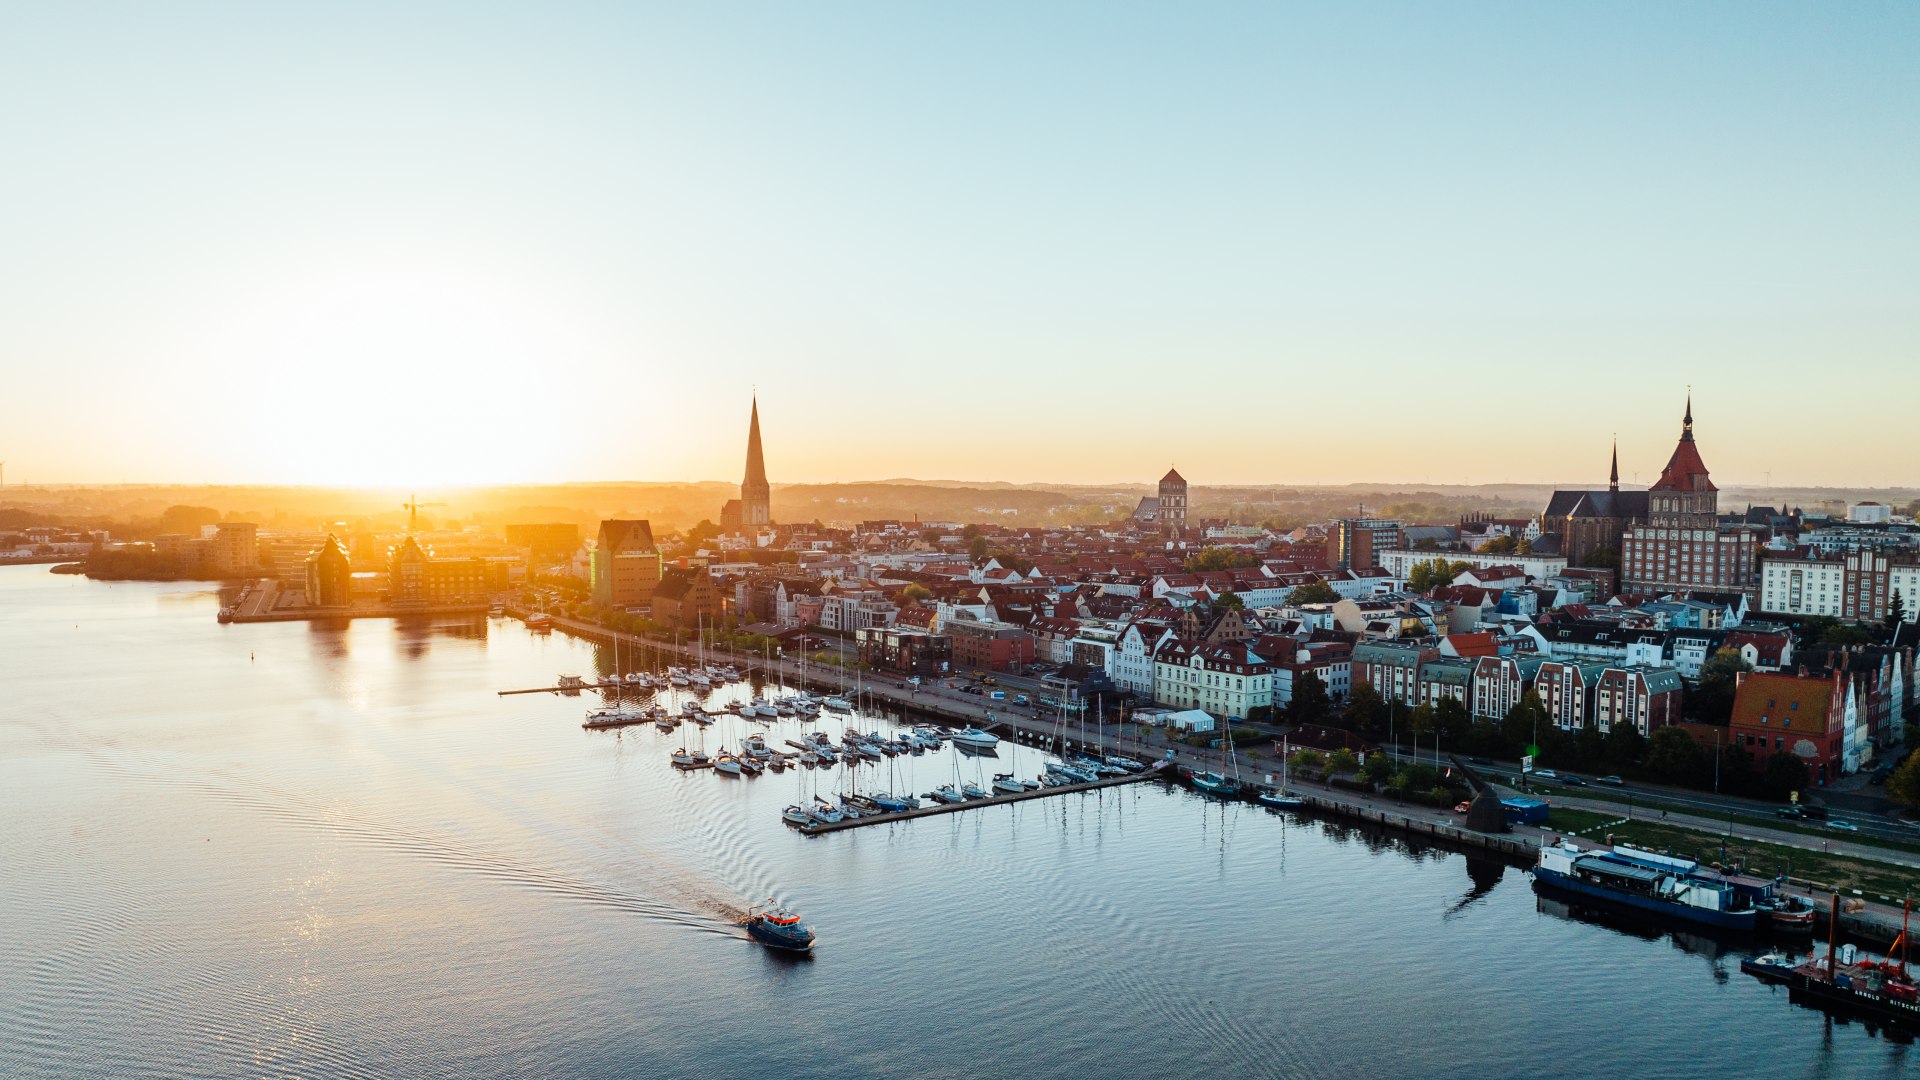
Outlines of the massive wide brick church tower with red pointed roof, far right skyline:
[[1693,442],[1692,396],[1680,442],[1647,503],[1647,523],[1628,528],[1620,542],[1624,592],[1753,590],[1753,534],[1720,528],[1720,490]]

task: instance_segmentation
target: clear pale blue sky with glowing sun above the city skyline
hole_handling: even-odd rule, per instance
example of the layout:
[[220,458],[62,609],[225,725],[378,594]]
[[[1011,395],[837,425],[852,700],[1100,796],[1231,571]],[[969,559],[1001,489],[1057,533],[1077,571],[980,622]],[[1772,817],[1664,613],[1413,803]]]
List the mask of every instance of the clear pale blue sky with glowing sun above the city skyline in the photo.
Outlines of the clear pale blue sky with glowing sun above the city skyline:
[[0,4],[8,482],[1920,482],[1916,4]]

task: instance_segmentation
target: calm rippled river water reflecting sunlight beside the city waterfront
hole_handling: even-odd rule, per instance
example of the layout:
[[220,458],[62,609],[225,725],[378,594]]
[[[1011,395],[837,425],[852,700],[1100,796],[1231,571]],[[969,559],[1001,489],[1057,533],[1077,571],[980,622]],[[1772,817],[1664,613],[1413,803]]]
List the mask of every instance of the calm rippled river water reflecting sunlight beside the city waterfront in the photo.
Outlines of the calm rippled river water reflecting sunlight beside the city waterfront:
[[[586,642],[217,607],[0,569],[0,1074],[1908,1068],[1738,949],[1574,917],[1496,861],[1150,782],[806,838],[780,809],[816,790],[1039,757],[680,774],[691,736],[495,694],[611,671]],[[812,957],[745,940],[766,896]]]

